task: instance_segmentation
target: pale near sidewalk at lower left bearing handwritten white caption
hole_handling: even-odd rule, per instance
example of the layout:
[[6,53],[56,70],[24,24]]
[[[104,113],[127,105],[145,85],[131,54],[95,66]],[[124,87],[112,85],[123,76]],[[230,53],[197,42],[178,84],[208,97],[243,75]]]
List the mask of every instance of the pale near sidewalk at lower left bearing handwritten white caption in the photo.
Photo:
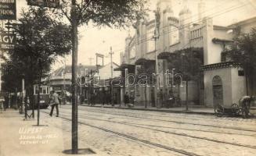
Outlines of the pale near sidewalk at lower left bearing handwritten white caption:
[[[49,111],[46,109],[46,111]],[[65,132],[61,118],[50,117],[40,113],[40,125],[37,124],[37,111],[35,119],[23,120],[23,115],[14,109],[7,109],[0,113],[0,155],[1,156],[55,156],[63,154],[71,147],[71,133]],[[70,125],[71,126],[71,125]],[[78,143],[80,148],[84,144]],[[91,148],[92,149],[92,148]],[[96,149],[92,156],[106,155]],[[81,154],[79,154],[81,155]]]

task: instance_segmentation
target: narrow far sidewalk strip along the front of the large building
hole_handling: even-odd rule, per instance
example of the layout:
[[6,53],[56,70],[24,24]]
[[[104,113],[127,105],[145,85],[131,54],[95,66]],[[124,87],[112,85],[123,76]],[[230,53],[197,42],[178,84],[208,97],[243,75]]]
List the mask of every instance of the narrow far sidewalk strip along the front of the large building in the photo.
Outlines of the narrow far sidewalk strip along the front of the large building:
[[[84,104],[82,106],[88,106],[88,104]],[[93,105],[92,107],[102,107],[102,105],[96,104],[96,105]],[[195,106],[189,106],[189,111],[186,111],[186,106],[183,106],[183,108],[182,107],[178,107],[178,108],[148,107],[148,108],[145,108],[144,106],[134,106],[134,108],[128,108],[128,107],[124,107],[123,105],[121,105],[121,107],[120,107],[120,105],[114,105],[114,106],[104,105],[103,108],[134,109],[134,110],[140,110],[140,111],[175,112],[175,113],[188,113],[188,114],[200,114],[200,115],[214,115],[215,114],[214,108],[195,107]]]

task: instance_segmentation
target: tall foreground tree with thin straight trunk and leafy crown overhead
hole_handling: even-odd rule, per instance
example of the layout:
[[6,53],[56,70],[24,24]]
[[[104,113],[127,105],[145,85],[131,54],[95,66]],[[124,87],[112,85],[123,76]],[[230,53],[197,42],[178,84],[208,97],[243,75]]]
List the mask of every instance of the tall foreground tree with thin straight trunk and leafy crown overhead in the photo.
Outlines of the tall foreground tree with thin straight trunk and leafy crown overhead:
[[[72,153],[78,154],[78,27],[126,27],[139,20],[145,13],[146,0],[62,0],[60,15],[66,16],[71,25],[72,41]],[[56,12],[58,13],[58,12]]]

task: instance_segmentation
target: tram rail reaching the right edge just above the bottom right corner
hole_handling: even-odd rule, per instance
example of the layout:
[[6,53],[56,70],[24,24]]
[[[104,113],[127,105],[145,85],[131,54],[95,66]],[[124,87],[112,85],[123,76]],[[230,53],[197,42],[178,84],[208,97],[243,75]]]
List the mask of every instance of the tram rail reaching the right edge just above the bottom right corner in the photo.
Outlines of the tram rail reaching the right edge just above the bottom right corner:
[[[68,112],[65,112],[65,113],[68,113]],[[247,148],[256,149],[256,146],[251,146],[251,145],[247,145],[247,144],[230,143],[230,142],[226,142],[226,141],[222,141],[222,140],[210,139],[210,138],[207,138],[207,137],[196,137],[196,136],[192,136],[192,135],[189,135],[189,134],[186,134],[186,133],[173,133],[173,132],[170,132],[170,131],[138,126],[134,123],[131,124],[131,123],[127,123],[127,122],[115,122],[115,121],[109,121],[109,120],[106,120],[106,119],[97,119],[97,118],[93,118],[93,117],[88,117],[86,115],[80,115],[80,118],[103,121],[103,122],[112,122],[112,123],[117,123],[117,124],[121,124],[121,125],[125,125],[125,126],[134,126],[136,128],[149,129],[149,130],[153,130],[153,131],[157,131],[157,132],[161,132],[161,133],[168,133],[168,134],[177,135],[177,136],[180,136],[180,137],[190,137],[190,138],[197,139],[197,140],[207,140],[207,141],[211,141],[211,142],[215,142],[215,143],[219,143],[219,144],[229,144],[229,145],[233,145],[233,146],[236,146],[236,147],[247,147]],[[85,123],[85,122],[82,122],[82,123]]]

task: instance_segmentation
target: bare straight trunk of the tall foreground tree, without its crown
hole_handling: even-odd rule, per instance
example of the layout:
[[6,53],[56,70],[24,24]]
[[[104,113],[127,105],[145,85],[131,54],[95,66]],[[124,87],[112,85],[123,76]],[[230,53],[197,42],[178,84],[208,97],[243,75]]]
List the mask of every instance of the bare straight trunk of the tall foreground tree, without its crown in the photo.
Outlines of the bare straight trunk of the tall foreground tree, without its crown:
[[78,154],[78,20],[76,0],[71,2],[71,40],[72,40],[72,154]]

